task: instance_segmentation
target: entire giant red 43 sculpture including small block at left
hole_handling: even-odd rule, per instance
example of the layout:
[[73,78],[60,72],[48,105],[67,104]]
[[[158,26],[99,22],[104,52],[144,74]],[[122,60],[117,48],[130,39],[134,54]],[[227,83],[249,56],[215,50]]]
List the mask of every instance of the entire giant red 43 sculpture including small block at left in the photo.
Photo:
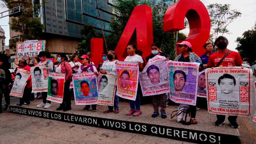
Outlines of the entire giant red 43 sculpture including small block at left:
[[[184,29],[185,17],[189,22],[189,34],[185,40],[192,45],[192,50],[198,56],[204,53],[203,45],[207,42],[211,20],[204,4],[199,0],[180,0],[168,7],[164,14],[164,32],[175,32]],[[182,42],[178,41],[178,43]],[[152,12],[148,5],[134,7],[124,31],[116,45],[115,52],[118,60],[124,60],[128,55],[126,47],[130,43],[137,43],[137,48],[143,51],[145,58],[151,53],[153,44]],[[177,48],[176,48],[177,49]],[[92,38],[91,61],[98,64],[103,52],[103,39]],[[179,54],[179,50],[177,50]]]

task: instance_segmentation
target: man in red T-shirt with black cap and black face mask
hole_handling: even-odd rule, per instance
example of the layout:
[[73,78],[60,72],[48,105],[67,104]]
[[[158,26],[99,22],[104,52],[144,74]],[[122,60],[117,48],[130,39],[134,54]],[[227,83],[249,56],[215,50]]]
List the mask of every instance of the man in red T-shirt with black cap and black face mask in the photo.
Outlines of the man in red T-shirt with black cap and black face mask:
[[[228,46],[228,39],[224,36],[219,36],[215,41],[215,46],[218,47],[218,51],[214,52],[210,55],[207,66],[210,68],[216,67],[222,57],[229,52],[230,50],[227,49]],[[220,63],[219,67],[241,67],[243,60],[238,52],[231,52],[227,55],[227,57]],[[228,121],[231,124],[231,127],[238,128],[239,125],[236,123],[237,116],[228,116]],[[221,126],[225,123],[225,115],[217,115],[217,121],[214,125]]]

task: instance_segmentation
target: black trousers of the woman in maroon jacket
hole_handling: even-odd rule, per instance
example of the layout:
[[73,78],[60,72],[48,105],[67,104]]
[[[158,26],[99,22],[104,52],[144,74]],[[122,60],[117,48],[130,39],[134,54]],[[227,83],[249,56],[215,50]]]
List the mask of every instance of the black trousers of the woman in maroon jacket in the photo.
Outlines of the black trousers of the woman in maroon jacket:
[[71,95],[69,94],[70,81],[64,83],[63,102],[60,104],[62,108],[71,108]]

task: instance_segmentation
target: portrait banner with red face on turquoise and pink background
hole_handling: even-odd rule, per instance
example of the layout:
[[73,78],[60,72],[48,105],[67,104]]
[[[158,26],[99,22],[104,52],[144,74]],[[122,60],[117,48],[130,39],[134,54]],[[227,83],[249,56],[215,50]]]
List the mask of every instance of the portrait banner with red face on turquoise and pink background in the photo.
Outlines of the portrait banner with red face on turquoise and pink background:
[[76,105],[92,105],[98,101],[98,82],[94,73],[73,74]]

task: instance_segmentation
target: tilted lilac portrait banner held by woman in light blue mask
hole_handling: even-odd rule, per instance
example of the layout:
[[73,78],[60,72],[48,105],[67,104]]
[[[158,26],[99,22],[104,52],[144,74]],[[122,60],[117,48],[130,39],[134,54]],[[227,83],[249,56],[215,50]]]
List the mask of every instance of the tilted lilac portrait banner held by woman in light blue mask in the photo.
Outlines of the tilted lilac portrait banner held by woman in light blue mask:
[[157,95],[169,92],[168,69],[164,56],[156,55],[149,59],[140,72],[140,86],[143,96]]

